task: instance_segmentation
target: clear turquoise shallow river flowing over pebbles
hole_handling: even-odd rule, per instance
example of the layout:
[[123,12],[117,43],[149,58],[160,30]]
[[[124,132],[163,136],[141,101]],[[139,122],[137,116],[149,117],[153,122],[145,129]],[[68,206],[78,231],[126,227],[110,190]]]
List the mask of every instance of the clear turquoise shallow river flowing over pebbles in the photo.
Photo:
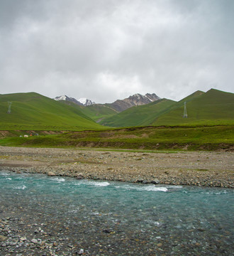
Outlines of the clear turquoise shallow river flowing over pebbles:
[[[230,188],[0,171],[0,218],[7,216],[28,227],[46,223],[50,240],[61,238],[73,247],[61,242],[56,255],[76,255],[80,249],[85,255],[233,255]],[[33,238],[34,230],[28,228],[26,235]]]

